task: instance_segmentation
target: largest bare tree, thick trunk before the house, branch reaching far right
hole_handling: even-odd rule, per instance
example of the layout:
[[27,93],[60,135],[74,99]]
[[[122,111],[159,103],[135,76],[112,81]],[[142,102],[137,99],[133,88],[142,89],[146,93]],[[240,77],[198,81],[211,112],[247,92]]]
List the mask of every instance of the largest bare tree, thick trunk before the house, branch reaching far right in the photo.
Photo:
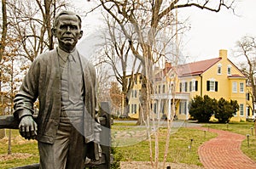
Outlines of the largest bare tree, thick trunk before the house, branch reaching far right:
[[[212,12],[219,12],[221,8],[231,8],[235,0],[147,0],[147,1],[116,1],[116,0],[100,0],[102,8],[110,14],[113,19],[119,24],[124,36],[129,42],[132,54],[140,60],[143,65],[142,70],[142,111],[140,113],[139,123],[148,123],[154,116],[150,117],[151,110],[151,94],[153,93],[153,69],[154,64],[159,61],[162,56],[165,56],[165,52],[162,49],[165,45],[160,45],[160,34],[169,28],[172,30],[174,25],[170,24],[171,20],[174,20],[175,14],[173,12],[179,8],[195,7],[200,9],[207,9]],[[172,22],[171,22],[172,23]],[[179,25],[179,23],[175,23]],[[131,25],[133,31],[127,30],[127,25]],[[177,29],[179,30],[179,29]],[[178,31],[175,32],[176,34]],[[169,38],[172,38],[169,37]],[[168,38],[167,38],[168,39]],[[154,133],[157,137],[157,132]],[[150,138],[150,137],[149,137]],[[156,138],[157,139],[157,138]],[[157,149],[157,142],[155,143],[155,149]],[[151,149],[151,144],[150,144]],[[155,151],[155,165],[158,166],[158,151]],[[150,151],[151,161],[152,152]]]

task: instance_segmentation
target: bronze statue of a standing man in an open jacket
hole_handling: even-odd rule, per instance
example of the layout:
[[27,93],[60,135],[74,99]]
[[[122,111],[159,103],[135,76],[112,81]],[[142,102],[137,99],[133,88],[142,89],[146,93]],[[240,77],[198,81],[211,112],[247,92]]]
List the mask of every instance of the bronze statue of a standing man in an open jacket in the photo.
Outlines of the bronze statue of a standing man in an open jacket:
[[40,168],[84,168],[86,156],[98,157],[96,70],[76,48],[83,36],[79,15],[62,11],[52,33],[58,47],[32,62],[15,96],[14,115],[20,120],[20,135],[38,140]]

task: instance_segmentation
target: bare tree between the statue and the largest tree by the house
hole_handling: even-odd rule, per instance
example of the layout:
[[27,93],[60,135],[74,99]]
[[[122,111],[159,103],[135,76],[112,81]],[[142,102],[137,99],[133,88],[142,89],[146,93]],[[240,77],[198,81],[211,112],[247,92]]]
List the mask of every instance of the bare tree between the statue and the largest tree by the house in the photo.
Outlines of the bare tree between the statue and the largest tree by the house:
[[[108,25],[108,33],[106,34],[105,32],[103,35],[105,42],[103,44],[104,53],[102,58],[105,58],[104,62],[112,67],[113,75],[122,87],[121,95],[124,102],[122,104],[122,115],[127,116],[129,95],[131,94],[131,88],[134,86],[134,79],[137,79],[137,73],[141,66],[137,58],[131,54],[128,39],[120,30],[116,20],[109,18],[107,14],[105,21]],[[132,31],[128,27],[127,30]],[[128,76],[130,76],[130,81],[128,81]]]

